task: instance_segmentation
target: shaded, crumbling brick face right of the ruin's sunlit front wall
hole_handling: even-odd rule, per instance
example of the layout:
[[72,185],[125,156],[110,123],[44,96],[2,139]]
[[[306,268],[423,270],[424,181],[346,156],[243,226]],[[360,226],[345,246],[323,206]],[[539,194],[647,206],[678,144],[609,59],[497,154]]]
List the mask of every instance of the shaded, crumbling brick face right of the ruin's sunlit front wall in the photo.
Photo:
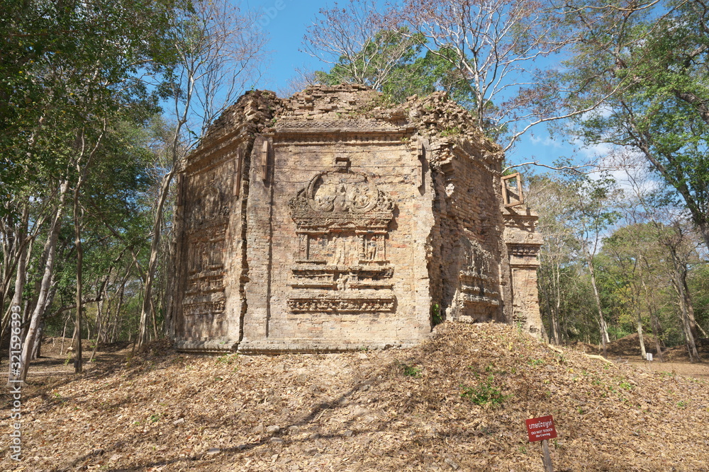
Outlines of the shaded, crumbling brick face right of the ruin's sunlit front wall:
[[442,142],[436,156],[434,303],[443,319],[506,321],[503,286],[508,274],[502,265],[504,222],[500,212],[499,160],[496,149],[470,142]]

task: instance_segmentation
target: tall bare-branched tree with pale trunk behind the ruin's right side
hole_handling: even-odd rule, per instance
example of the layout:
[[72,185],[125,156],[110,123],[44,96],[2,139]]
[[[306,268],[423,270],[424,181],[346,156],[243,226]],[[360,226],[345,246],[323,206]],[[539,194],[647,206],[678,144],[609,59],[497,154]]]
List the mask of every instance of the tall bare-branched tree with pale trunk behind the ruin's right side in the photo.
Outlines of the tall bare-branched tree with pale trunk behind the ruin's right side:
[[468,81],[478,128],[504,151],[531,127],[589,109],[560,114],[552,105],[569,91],[543,64],[575,40],[553,3],[407,0],[387,16]]

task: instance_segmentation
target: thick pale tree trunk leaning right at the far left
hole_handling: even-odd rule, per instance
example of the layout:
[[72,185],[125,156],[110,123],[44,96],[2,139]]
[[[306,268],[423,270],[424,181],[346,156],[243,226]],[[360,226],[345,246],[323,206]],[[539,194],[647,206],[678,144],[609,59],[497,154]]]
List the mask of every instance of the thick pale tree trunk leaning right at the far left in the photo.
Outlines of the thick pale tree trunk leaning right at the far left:
[[32,316],[30,317],[30,326],[27,331],[25,338],[25,343],[22,347],[22,355],[20,359],[20,368],[16,372],[12,372],[9,378],[10,381],[21,381],[24,382],[27,378],[27,371],[30,367],[30,349],[33,347],[35,342],[35,336],[37,335],[37,330],[40,323],[40,318],[43,315],[45,301],[47,301],[50,282],[52,280],[52,274],[54,272],[55,256],[57,254],[57,238],[59,237],[59,231],[62,226],[62,214],[64,213],[65,198],[67,195],[67,189],[69,188],[69,181],[65,180],[60,186],[59,192],[59,205],[57,205],[57,212],[52,221],[52,226],[50,227],[49,234],[47,236],[47,242],[45,243],[45,249],[43,253],[45,254],[45,270],[42,276],[42,282],[40,286],[40,293],[38,297],[37,304]]

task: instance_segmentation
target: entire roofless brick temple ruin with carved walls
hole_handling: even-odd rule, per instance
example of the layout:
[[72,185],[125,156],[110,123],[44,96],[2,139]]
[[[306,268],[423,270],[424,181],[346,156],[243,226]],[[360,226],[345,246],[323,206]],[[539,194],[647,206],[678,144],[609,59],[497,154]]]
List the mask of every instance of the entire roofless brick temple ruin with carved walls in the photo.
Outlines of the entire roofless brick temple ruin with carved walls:
[[502,159],[445,93],[246,93],[178,178],[176,347],[409,346],[442,320],[540,335],[537,217]]

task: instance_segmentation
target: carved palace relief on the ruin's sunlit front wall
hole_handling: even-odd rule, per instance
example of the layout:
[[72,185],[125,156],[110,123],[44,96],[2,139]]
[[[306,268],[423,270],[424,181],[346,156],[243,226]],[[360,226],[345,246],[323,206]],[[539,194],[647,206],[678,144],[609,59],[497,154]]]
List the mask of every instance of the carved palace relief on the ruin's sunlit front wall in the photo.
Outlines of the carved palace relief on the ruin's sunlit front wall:
[[364,173],[346,167],[313,176],[289,201],[298,234],[293,313],[393,311],[386,235],[393,202]]

